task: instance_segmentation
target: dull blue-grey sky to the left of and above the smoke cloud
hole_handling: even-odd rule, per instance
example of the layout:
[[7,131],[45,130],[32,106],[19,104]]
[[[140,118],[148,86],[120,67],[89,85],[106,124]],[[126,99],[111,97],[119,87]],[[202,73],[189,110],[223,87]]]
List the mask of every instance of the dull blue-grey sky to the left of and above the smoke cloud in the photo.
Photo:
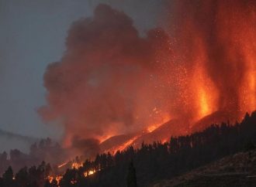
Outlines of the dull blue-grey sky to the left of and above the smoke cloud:
[[64,53],[71,23],[96,5],[123,10],[143,35],[160,24],[161,0],[0,0],[0,129],[33,137],[60,138],[36,108],[45,103],[43,73]]

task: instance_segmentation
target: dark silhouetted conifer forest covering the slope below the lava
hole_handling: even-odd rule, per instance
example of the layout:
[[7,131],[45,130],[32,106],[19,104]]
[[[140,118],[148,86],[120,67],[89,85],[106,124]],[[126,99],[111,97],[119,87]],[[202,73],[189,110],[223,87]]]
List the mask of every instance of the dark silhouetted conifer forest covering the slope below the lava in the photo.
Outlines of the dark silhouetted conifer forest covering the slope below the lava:
[[[86,160],[81,168],[67,169],[60,186],[127,186],[130,181],[133,183],[135,173],[130,165],[131,160],[136,168],[137,185],[148,186],[151,182],[171,179],[226,155],[254,149],[255,144],[256,112],[254,111],[251,116],[246,114],[244,120],[237,124],[213,124],[201,132],[171,137],[171,140],[164,144],[154,142],[152,145],[142,144],[137,150],[130,147],[126,151],[117,151],[116,155],[97,155],[94,161]],[[49,171],[50,165],[47,166],[43,162],[37,168],[35,166],[29,170],[22,168],[16,174],[16,178],[12,179],[12,168],[8,168],[0,179],[0,186],[36,187],[43,184],[57,186],[56,181],[45,182]],[[96,172],[85,177],[84,173],[89,171]]]

